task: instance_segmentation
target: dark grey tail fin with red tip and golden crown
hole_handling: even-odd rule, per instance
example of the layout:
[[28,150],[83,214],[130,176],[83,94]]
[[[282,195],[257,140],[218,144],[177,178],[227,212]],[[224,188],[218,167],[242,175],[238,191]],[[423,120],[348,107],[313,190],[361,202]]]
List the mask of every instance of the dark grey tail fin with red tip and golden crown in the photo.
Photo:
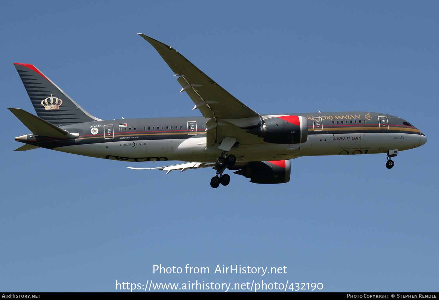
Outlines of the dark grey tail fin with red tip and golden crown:
[[38,117],[51,124],[69,125],[95,118],[32,64],[14,64]]

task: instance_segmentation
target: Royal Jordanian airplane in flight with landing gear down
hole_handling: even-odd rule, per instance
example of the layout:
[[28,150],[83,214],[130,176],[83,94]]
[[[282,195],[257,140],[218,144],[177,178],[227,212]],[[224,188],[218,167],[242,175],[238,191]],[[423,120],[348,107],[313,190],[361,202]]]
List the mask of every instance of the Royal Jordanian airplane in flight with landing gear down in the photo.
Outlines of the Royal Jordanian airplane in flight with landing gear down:
[[[200,117],[101,120],[89,114],[31,64],[14,64],[36,115],[8,108],[31,131],[15,151],[46,148],[117,161],[184,161],[158,169],[169,173],[213,168],[212,188],[230,175],[250,182],[289,182],[291,159],[317,155],[387,154],[392,168],[399,151],[427,142],[409,122],[382,113],[259,114],[241,103],[172,47],[138,33],[177,77]],[[167,174],[166,173],[166,174]]]

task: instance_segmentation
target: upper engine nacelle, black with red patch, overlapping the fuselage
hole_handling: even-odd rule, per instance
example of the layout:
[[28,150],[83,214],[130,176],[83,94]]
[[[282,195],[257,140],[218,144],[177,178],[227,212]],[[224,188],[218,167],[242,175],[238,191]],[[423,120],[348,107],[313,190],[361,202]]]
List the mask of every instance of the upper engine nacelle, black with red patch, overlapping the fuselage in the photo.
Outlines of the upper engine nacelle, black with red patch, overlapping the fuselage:
[[248,133],[274,144],[301,144],[308,138],[308,121],[302,116],[268,118]]

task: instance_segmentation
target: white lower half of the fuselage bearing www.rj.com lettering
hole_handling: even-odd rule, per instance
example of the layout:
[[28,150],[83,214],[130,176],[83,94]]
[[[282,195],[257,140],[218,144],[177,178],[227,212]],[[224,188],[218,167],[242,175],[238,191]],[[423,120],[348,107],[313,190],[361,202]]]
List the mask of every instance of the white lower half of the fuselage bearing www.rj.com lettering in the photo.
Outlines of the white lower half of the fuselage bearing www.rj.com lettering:
[[[202,135],[200,135],[202,136]],[[408,150],[420,146],[421,135],[407,133],[317,134],[309,135],[302,144],[253,144],[240,145],[229,151],[237,161],[273,161],[301,156],[376,154],[388,150]],[[54,148],[62,152],[121,161],[194,161],[212,162],[223,150],[206,148],[206,138],[124,140]]]

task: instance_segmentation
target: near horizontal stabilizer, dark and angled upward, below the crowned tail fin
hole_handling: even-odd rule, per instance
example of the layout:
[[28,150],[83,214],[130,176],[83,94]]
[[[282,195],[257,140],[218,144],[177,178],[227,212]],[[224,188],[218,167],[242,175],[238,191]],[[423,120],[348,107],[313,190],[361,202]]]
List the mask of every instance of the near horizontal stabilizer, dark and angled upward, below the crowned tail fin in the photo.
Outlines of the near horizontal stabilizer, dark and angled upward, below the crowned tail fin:
[[49,136],[58,139],[72,139],[79,136],[79,134],[68,133],[67,131],[50,124],[42,118],[28,113],[21,108],[8,107],[7,109],[15,114],[15,116],[36,136]]

